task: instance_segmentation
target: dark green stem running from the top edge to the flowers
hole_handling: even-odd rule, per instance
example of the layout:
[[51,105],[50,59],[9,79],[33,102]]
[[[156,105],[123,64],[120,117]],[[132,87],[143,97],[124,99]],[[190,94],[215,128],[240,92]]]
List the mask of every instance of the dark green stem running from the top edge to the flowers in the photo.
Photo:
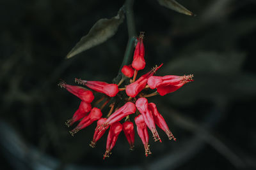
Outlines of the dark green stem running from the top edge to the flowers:
[[125,11],[126,20],[127,20],[129,40],[127,42],[127,46],[125,49],[123,62],[118,71],[118,75],[113,79],[113,83],[118,83],[122,79],[123,77],[123,74],[121,72],[122,67],[125,65],[128,65],[128,63],[131,62],[132,52],[134,48],[134,41],[136,40],[133,3],[134,3],[134,0],[126,0],[124,3],[124,11]]

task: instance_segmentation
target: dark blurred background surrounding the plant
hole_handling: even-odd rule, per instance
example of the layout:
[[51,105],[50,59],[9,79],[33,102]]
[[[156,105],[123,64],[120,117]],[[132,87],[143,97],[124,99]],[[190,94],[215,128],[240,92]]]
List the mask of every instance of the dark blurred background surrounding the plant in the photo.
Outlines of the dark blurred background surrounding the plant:
[[71,59],[67,53],[100,18],[124,1],[0,1],[1,169],[255,169],[256,1],[179,0],[196,13],[182,15],[157,1],[135,1],[136,31],[145,31],[143,74],[194,74],[195,81],[150,102],[177,138],[150,138],[145,157],[136,135],[134,152],[124,133],[102,160],[106,134],[89,146],[95,123],[70,136],[64,122],[79,99],[59,79],[111,82],[127,44],[126,20],[115,36]]

